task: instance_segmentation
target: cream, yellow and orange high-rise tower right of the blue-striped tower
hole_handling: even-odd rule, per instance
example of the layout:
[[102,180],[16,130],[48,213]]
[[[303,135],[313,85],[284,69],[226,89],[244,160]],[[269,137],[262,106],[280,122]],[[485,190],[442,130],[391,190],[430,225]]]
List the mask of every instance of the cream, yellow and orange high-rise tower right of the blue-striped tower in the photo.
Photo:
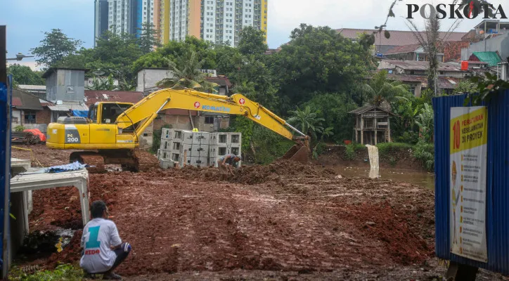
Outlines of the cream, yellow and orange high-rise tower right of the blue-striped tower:
[[243,27],[267,32],[268,0],[160,0],[163,44],[194,36],[237,46]]

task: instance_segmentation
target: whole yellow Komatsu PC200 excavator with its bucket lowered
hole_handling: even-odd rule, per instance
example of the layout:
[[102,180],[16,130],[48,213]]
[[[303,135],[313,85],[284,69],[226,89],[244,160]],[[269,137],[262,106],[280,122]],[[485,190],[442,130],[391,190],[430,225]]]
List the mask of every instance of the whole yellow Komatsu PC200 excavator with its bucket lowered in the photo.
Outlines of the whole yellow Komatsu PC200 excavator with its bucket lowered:
[[105,164],[121,164],[131,171],[150,169],[157,161],[148,152],[136,150],[139,138],[161,110],[173,108],[243,115],[296,142],[283,159],[306,162],[309,157],[309,138],[262,105],[240,93],[228,97],[191,89],[155,91],[136,104],[98,102],[90,106],[87,118],[59,117],[48,126],[46,146],[84,150],[72,152],[70,162],[93,166],[92,171],[104,171]]

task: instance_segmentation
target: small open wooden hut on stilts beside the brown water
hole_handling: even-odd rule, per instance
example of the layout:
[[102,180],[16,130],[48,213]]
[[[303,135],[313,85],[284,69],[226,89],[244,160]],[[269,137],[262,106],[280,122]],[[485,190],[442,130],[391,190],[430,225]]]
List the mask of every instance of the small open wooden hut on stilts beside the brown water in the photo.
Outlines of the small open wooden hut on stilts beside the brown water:
[[391,120],[395,116],[390,110],[375,105],[366,105],[349,112],[355,115],[355,142],[363,145],[391,142]]

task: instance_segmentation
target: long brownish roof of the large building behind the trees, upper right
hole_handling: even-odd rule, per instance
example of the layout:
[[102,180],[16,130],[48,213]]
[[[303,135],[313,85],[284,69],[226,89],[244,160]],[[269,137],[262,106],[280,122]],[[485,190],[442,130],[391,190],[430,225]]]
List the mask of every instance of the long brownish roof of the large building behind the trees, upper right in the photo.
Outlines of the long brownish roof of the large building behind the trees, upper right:
[[[361,30],[355,28],[340,28],[336,30],[338,33],[342,34],[342,36],[347,37],[349,39],[356,39],[358,34],[366,32],[368,34],[373,33],[375,30]],[[419,44],[419,41],[415,39],[413,32],[411,31],[403,31],[403,30],[389,30],[391,37],[389,39],[385,38],[384,32],[377,32],[375,34],[375,46],[383,45],[383,46],[405,46],[412,44]],[[423,37],[426,37],[425,32],[421,32]],[[445,41],[461,41],[462,37],[467,34],[467,32],[451,32],[447,38],[447,32],[440,32],[440,39],[445,39]]]

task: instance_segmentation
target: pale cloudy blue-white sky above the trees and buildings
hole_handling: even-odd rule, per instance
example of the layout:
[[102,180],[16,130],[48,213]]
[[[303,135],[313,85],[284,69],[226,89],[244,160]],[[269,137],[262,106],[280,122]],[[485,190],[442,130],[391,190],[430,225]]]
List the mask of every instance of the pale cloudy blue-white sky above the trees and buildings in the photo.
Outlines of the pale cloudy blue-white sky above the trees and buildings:
[[[269,48],[277,48],[289,41],[290,32],[300,23],[328,25],[337,28],[367,28],[381,25],[385,21],[392,0],[268,0],[269,1]],[[387,29],[408,30],[406,26],[406,4],[451,4],[453,0],[404,0],[394,8],[396,18],[389,18]],[[503,4],[509,15],[507,0],[491,0],[491,4]],[[8,57],[21,52],[28,54],[37,46],[46,32],[60,28],[67,36],[81,39],[85,47],[94,40],[94,0],[0,0],[2,12],[0,25],[7,25]],[[423,26],[418,13],[416,22]],[[463,20],[457,31],[466,32],[479,19]],[[442,29],[449,28],[452,20],[444,20]],[[34,67],[33,59],[23,64]]]

